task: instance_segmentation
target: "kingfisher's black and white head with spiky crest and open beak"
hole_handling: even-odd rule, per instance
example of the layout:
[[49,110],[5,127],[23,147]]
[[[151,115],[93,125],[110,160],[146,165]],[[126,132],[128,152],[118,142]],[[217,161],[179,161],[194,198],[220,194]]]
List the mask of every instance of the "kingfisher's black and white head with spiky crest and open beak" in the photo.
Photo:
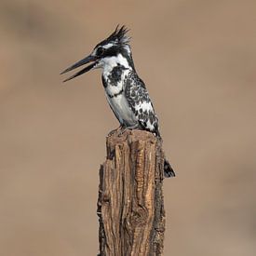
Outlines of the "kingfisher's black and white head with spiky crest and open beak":
[[125,68],[134,69],[131,50],[129,47],[128,29],[125,26],[116,27],[115,32],[101,41],[88,55],[81,61],[64,70],[61,74],[72,71],[82,65],[88,64],[84,69],[64,80],[64,82],[74,77],[84,74],[89,70],[102,68],[103,72],[111,71],[116,65],[122,65]]

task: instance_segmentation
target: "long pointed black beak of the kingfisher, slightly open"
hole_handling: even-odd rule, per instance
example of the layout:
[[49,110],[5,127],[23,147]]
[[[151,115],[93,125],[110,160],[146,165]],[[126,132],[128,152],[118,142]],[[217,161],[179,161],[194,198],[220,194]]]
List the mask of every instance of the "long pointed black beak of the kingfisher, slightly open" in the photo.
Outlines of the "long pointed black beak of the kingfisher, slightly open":
[[63,82],[67,82],[71,79],[73,79],[74,77],[80,75],[80,74],[84,74],[86,72],[88,72],[89,70],[91,70],[92,68],[94,68],[97,65],[97,58],[89,55],[88,57],[86,57],[85,59],[81,60],[81,61],[77,61],[76,63],[74,63],[74,65],[70,66],[69,68],[65,69],[64,71],[61,72],[61,74],[65,74],[69,71],[72,71],[78,67],[81,67],[85,64],[88,64],[89,62],[93,61],[93,63],[91,63],[90,65],[88,65],[87,67],[85,67],[84,69],[80,70],[79,72],[73,74],[72,76],[70,76],[69,78],[65,79]]

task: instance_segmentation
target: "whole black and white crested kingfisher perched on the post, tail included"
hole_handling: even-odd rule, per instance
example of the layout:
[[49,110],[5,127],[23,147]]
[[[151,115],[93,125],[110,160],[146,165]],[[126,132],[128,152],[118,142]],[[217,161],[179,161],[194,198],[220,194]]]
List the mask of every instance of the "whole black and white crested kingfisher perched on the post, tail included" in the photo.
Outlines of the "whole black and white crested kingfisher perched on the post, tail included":
[[[106,99],[120,123],[119,128],[147,130],[161,138],[153,103],[135,70],[128,31],[125,25],[117,25],[115,31],[97,44],[86,58],[61,72],[65,74],[88,64],[63,82],[90,70],[101,69]],[[164,176],[175,176],[167,159],[164,161]]]

